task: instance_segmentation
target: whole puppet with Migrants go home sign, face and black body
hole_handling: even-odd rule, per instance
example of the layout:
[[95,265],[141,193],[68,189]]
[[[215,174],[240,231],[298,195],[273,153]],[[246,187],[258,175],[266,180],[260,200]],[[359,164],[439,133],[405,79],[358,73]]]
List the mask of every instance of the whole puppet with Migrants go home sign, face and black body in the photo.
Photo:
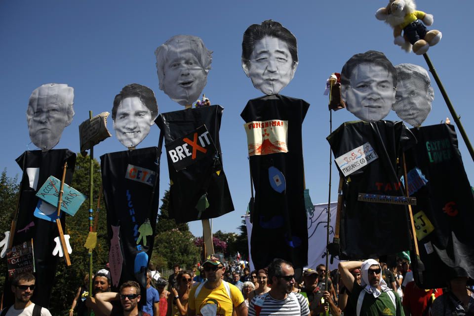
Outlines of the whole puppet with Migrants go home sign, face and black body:
[[416,140],[403,122],[382,120],[395,103],[395,67],[381,52],[356,54],[341,71],[341,85],[348,110],[363,121],[343,123],[327,137],[342,186],[339,259],[411,249],[409,234],[399,234],[409,230],[399,170]]

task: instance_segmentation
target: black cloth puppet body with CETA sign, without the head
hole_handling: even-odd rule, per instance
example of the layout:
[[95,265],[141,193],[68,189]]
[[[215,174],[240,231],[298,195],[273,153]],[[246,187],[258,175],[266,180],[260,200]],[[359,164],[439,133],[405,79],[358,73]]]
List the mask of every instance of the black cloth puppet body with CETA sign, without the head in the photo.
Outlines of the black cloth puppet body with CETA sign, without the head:
[[[144,302],[158,214],[160,154],[159,148],[147,147],[100,157],[112,285],[136,280]],[[122,262],[113,259],[117,256]]]

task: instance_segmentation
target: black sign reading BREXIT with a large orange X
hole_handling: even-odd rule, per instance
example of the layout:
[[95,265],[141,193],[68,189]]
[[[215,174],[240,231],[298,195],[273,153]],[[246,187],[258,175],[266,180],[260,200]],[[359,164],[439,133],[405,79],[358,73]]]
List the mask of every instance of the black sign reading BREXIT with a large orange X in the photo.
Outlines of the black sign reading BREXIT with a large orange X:
[[165,147],[176,171],[183,170],[207,156],[214,156],[217,152],[206,125],[201,125],[193,132],[175,139]]

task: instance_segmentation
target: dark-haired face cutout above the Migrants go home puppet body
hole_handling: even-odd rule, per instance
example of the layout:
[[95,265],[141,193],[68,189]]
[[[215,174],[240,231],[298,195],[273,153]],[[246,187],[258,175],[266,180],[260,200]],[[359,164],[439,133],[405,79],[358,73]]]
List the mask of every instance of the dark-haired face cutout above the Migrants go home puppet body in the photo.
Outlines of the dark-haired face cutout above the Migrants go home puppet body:
[[378,121],[395,103],[396,71],[381,52],[356,54],[341,72],[341,95],[357,118]]

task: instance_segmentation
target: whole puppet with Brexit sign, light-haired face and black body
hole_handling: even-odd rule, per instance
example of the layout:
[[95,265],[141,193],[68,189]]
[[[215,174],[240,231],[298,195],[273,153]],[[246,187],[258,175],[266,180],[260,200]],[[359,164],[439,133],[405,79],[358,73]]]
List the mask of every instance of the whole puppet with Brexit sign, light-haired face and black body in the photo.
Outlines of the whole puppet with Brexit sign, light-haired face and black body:
[[177,223],[234,210],[219,143],[224,109],[219,105],[192,108],[206,85],[211,53],[200,38],[191,35],[175,35],[155,50],[160,90],[185,106],[155,120],[168,159],[169,217]]

